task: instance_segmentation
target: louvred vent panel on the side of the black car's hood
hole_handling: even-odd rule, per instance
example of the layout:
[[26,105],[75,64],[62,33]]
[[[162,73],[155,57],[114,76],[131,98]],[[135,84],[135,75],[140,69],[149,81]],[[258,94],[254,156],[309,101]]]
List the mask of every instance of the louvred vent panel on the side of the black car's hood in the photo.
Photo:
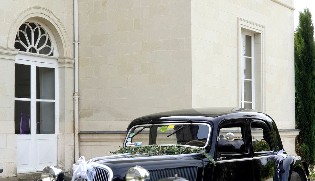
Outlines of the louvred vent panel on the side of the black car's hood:
[[169,168],[169,169],[156,169],[148,170],[150,172],[150,181],[157,181],[162,178],[174,177],[175,174],[178,177],[186,178],[190,181],[197,180],[198,167],[182,167],[182,168]]

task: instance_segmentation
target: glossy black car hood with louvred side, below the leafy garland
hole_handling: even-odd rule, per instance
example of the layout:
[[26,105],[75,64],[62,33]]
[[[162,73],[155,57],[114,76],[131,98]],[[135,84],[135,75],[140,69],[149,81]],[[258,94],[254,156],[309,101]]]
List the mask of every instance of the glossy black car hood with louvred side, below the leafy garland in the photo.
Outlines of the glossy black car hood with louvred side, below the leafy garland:
[[175,174],[193,181],[197,180],[197,172],[203,170],[203,159],[200,156],[198,153],[157,156],[153,156],[153,153],[120,154],[110,157],[99,157],[92,161],[110,167],[113,172],[113,181],[125,180],[128,169],[136,165],[150,172],[150,181],[174,177]]

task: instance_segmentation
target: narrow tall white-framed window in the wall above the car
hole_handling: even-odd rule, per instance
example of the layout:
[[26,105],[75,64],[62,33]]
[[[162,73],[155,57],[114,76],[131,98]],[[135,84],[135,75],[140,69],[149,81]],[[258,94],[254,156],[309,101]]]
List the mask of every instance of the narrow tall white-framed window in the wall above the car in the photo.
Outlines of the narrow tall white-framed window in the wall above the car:
[[242,99],[244,108],[255,109],[254,34],[242,31]]

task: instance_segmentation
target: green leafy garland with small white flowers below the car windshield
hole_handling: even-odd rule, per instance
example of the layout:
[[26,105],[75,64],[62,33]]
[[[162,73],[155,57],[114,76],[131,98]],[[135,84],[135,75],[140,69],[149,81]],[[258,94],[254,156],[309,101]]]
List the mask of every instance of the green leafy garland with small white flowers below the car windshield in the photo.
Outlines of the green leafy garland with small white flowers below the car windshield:
[[149,153],[150,155],[179,155],[179,154],[187,154],[187,153],[199,153],[204,155],[211,161],[213,165],[215,165],[215,160],[212,156],[205,152],[203,148],[192,148],[192,147],[183,147],[178,145],[172,146],[159,146],[157,144],[146,145],[146,146],[127,146],[121,147],[119,146],[119,150],[110,151],[112,154],[123,154],[123,153],[131,153],[131,154],[142,154]]

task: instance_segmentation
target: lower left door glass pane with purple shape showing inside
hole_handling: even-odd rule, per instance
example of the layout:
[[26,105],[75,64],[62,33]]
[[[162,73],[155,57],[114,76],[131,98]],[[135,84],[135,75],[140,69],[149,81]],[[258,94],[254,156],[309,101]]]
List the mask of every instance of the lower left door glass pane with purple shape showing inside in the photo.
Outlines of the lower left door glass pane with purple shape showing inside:
[[31,134],[31,102],[14,101],[14,133]]

